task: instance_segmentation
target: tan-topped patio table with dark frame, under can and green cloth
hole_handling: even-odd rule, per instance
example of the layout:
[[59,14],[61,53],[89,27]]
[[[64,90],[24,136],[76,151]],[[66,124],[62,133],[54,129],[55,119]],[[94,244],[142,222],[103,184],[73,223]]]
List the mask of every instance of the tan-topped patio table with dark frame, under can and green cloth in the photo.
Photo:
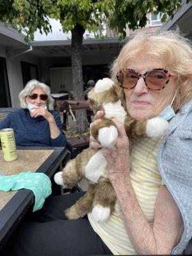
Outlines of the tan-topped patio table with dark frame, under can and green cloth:
[[[61,170],[62,162],[70,157],[64,147],[19,147],[17,153],[18,159],[5,162],[0,150],[0,175],[42,172],[51,178]],[[20,220],[28,211],[32,211],[34,202],[35,196],[29,189],[0,191],[0,250]]]

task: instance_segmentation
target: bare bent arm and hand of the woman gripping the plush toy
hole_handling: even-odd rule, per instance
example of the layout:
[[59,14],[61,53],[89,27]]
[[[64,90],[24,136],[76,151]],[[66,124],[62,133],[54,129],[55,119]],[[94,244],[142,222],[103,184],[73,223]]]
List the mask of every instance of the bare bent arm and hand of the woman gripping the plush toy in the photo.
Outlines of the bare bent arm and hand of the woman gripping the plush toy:
[[[97,121],[99,122],[99,121]],[[113,119],[118,128],[118,140],[113,148],[102,148],[108,161],[109,179],[124,218],[127,233],[138,254],[170,254],[179,243],[183,230],[182,217],[166,186],[161,186],[156,199],[154,223],[146,220],[129,176],[129,140],[124,126]],[[97,145],[91,140],[91,146]]]

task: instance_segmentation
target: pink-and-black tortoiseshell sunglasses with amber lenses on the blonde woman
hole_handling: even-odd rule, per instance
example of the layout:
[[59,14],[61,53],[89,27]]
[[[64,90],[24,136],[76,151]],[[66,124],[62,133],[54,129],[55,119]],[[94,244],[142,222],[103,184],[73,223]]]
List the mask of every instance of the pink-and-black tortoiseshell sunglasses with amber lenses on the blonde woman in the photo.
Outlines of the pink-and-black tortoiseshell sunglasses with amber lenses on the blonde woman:
[[147,88],[153,91],[163,90],[170,81],[170,76],[170,72],[164,68],[148,70],[145,74],[138,74],[136,70],[126,68],[125,70],[120,70],[116,74],[120,86],[124,89],[134,88],[140,77],[143,77]]

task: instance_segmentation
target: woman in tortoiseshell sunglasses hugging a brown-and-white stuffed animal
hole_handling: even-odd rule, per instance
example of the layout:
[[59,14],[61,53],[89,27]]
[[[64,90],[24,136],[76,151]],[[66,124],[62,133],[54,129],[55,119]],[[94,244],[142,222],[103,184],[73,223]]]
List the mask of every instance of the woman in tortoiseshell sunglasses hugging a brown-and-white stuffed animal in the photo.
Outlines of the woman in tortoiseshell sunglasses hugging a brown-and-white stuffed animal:
[[[54,196],[33,215],[33,222],[17,229],[12,246],[6,248],[10,255],[188,252],[192,237],[191,45],[172,31],[136,35],[111,66],[111,78],[123,88],[129,116],[138,122],[161,117],[168,121],[165,134],[161,134],[161,122],[154,122],[147,136],[130,139],[121,118],[106,115],[107,106],[116,106],[105,105],[97,112],[91,131],[105,115],[118,131],[116,136],[114,130],[116,141],[105,146],[106,134],[113,129],[107,127],[100,143],[90,137],[90,146],[102,148],[115,191],[116,204],[108,220],[97,221],[93,212],[78,220],[63,220],[61,210],[82,194]],[[161,136],[156,136],[158,132]]]

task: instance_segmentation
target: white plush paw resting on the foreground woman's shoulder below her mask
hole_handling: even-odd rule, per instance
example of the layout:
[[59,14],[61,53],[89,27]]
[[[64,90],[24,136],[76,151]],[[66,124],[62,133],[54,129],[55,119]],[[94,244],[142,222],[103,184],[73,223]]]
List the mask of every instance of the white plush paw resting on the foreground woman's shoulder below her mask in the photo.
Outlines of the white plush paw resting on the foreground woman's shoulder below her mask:
[[146,135],[150,138],[161,137],[167,131],[168,125],[169,123],[160,116],[150,118],[146,125]]

